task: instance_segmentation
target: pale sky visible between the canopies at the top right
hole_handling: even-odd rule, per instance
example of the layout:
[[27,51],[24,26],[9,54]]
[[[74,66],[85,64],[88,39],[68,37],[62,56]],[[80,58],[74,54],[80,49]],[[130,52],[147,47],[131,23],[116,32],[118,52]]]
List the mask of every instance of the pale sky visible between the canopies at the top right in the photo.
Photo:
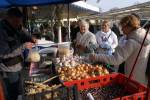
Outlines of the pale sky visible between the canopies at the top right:
[[87,0],[87,3],[101,7],[102,12],[105,12],[115,7],[123,8],[134,5],[136,3],[143,3],[150,0],[100,0],[99,3],[97,3],[96,1],[97,0]]

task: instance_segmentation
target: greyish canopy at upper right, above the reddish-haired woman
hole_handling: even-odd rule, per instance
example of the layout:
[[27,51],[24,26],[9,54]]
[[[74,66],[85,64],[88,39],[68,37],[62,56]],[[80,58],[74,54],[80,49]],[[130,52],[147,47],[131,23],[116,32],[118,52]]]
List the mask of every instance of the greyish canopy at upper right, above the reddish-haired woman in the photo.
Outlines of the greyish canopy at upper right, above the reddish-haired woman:
[[127,15],[127,14],[131,14],[131,13],[136,13],[138,15],[140,15],[140,18],[142,19],[148,19],[150,18],[150,1],[149,2],[145,2],[145,3],[141,3],[141,4],[136,4],[136,5],[132,5],[129,7],[125,7],[125,8],[118,8],[118,9],[112,9],[110,11],[107,12],[103,12],[100,14],[95,14],[95,15],[89,15],[89,16],[85,16],[88,18],[96,18],[96,19],[120,19],[123,16]]

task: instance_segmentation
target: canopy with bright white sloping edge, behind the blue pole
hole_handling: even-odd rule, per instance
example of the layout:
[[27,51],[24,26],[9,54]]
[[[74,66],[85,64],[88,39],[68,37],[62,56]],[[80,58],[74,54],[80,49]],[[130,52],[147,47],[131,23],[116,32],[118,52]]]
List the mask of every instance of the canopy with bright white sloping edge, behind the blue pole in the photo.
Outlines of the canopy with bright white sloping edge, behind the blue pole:
[[[50,5],[50,6],[39,6],[38,10],[35,11],[35,17],[40,19],[51,18],[54,16],[54,11],[56,10],[56,6],[60,8],[60,13],[62,18],[68,17],[68,5]],[[77,18],[81,16],[86,16],[93,13],[98,13],[99,8],[89,5],[83,1],[75,2],[69,5],[69,17]],[[29,16],[33,15],[32,8],[29,8]]]

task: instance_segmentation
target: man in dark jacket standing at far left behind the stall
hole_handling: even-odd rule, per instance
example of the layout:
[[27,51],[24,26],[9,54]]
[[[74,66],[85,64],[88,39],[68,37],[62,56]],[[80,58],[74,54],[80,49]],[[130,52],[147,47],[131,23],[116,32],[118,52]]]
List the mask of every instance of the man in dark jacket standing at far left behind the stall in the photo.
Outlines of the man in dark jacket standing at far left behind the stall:
[[36,39],[22,30],[23,13],[10,8],[0,21],[0,75],[3,78],[6,100],[17,100],[22,69],[22,51],[32,48]]

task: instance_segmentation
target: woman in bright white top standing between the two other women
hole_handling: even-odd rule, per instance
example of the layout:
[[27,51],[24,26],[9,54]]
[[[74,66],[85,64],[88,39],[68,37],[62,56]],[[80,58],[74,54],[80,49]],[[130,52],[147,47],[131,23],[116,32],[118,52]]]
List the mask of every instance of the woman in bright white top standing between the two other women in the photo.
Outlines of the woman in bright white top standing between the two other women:
[[102,22],[101,31],[96,33],[96,40],[98,47],[101,48],[98,52],[103,50],[103,53],[111,55],[115,51],[118,39],[117,35],[110,29],[110,22],[108,20]]

